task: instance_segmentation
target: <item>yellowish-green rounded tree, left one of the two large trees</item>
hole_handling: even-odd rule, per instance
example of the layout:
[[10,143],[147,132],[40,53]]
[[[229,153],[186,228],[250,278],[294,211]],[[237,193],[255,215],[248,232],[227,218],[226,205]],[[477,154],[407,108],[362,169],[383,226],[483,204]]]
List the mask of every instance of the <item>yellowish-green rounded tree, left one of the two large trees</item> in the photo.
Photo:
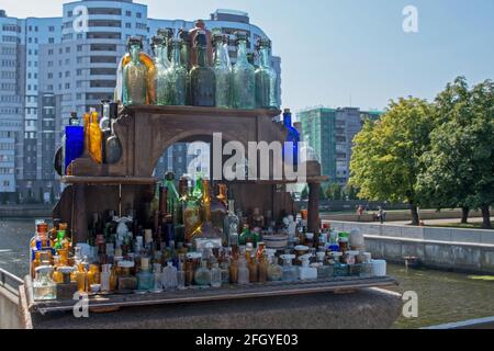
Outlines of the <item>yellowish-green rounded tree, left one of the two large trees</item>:
[[407,203],[413,225],[419,224],[417,177],[429,148],[431,117],[425,100],[391,101],[381,120],[367,121],[356,136],[350,162],[349,185],[360,189],[359,197]]

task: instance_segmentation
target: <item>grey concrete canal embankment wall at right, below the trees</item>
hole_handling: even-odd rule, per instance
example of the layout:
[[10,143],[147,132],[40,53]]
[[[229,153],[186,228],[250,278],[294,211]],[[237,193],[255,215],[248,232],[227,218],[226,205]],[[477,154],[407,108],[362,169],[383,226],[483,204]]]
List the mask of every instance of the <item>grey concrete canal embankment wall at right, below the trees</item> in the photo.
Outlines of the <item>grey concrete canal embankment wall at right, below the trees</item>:
[[403,262],[417,257],[429,268],[494,274],[494,230],[332,222],[336,230],[360,229],[375,257]]

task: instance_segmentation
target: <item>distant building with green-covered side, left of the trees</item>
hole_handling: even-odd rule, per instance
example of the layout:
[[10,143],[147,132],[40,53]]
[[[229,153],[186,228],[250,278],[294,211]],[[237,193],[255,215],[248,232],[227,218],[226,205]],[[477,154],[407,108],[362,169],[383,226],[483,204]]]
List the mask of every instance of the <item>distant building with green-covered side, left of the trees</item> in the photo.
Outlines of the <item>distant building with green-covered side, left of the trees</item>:
[[363,112],[358,107],[311,107],[297,114],[304,140],[314,149],[330,182],[346,185],[355,136],[366,118],[377,120],[382,112]]

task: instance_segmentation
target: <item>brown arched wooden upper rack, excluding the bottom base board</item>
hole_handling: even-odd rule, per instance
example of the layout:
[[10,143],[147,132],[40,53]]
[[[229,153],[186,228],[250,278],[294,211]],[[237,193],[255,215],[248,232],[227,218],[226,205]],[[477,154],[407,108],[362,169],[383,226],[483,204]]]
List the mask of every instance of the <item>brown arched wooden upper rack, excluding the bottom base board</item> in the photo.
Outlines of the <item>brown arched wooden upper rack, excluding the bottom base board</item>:
[[[72,242],[87,241],[88,220],[92,213],[117,210],[120,214],[126,214],[132,208],[141,219],[145,214],[144,203],[154,196],[157,182],[153,178],[154,169],[168,147],[176,143],[212,144],[215,133],[222,133],[223,143],[242,143],[245,150],[248,150],[249,141],[284,143],[287,128],[273,122],[280,113],[278,110],[195,106],[123,107],[114,127],[122,144],[122,159],[115,165],[98,165],[85,155],[74,161],[72,176],[61,179],[68,186],[54,210],[54,218],[68,223]],[[319,189],[328,178],[321,176],[318,162],[308,161],[306,168],[310,186],[307,226],[311,233],[317,234]],[[273,179],[272,174],[270,179]],[[271,211],[277,219],[296,213],[294,201],[284,189],[289,181],[226,183],[236,206],[246,214],[256,207],[261,213]]]

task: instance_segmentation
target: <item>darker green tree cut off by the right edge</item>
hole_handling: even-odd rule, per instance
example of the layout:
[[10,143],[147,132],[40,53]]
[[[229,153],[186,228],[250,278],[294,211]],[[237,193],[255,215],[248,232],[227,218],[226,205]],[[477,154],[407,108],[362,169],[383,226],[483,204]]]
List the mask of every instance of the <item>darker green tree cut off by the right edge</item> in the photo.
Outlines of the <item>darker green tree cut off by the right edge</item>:
[[491,228],[494,202],[494,94],[493,82],[469,90],[459,77],[436,99],[436,127],[430,150],[424,154],[422,196],[438,208],[462,207],[462,222],[470,208],[480,208],[484,228]]

